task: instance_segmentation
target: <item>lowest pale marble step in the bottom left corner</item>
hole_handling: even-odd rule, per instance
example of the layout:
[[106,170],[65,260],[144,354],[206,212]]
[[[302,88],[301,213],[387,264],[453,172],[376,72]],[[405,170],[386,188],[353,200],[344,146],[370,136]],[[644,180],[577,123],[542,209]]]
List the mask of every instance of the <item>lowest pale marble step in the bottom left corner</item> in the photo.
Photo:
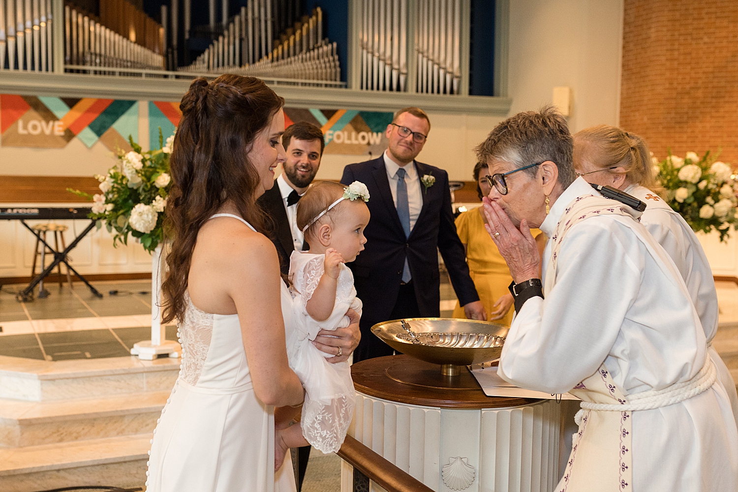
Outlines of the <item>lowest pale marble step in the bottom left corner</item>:
[[153,434],[0,449],[0,491],[80,485],[142,487]]

